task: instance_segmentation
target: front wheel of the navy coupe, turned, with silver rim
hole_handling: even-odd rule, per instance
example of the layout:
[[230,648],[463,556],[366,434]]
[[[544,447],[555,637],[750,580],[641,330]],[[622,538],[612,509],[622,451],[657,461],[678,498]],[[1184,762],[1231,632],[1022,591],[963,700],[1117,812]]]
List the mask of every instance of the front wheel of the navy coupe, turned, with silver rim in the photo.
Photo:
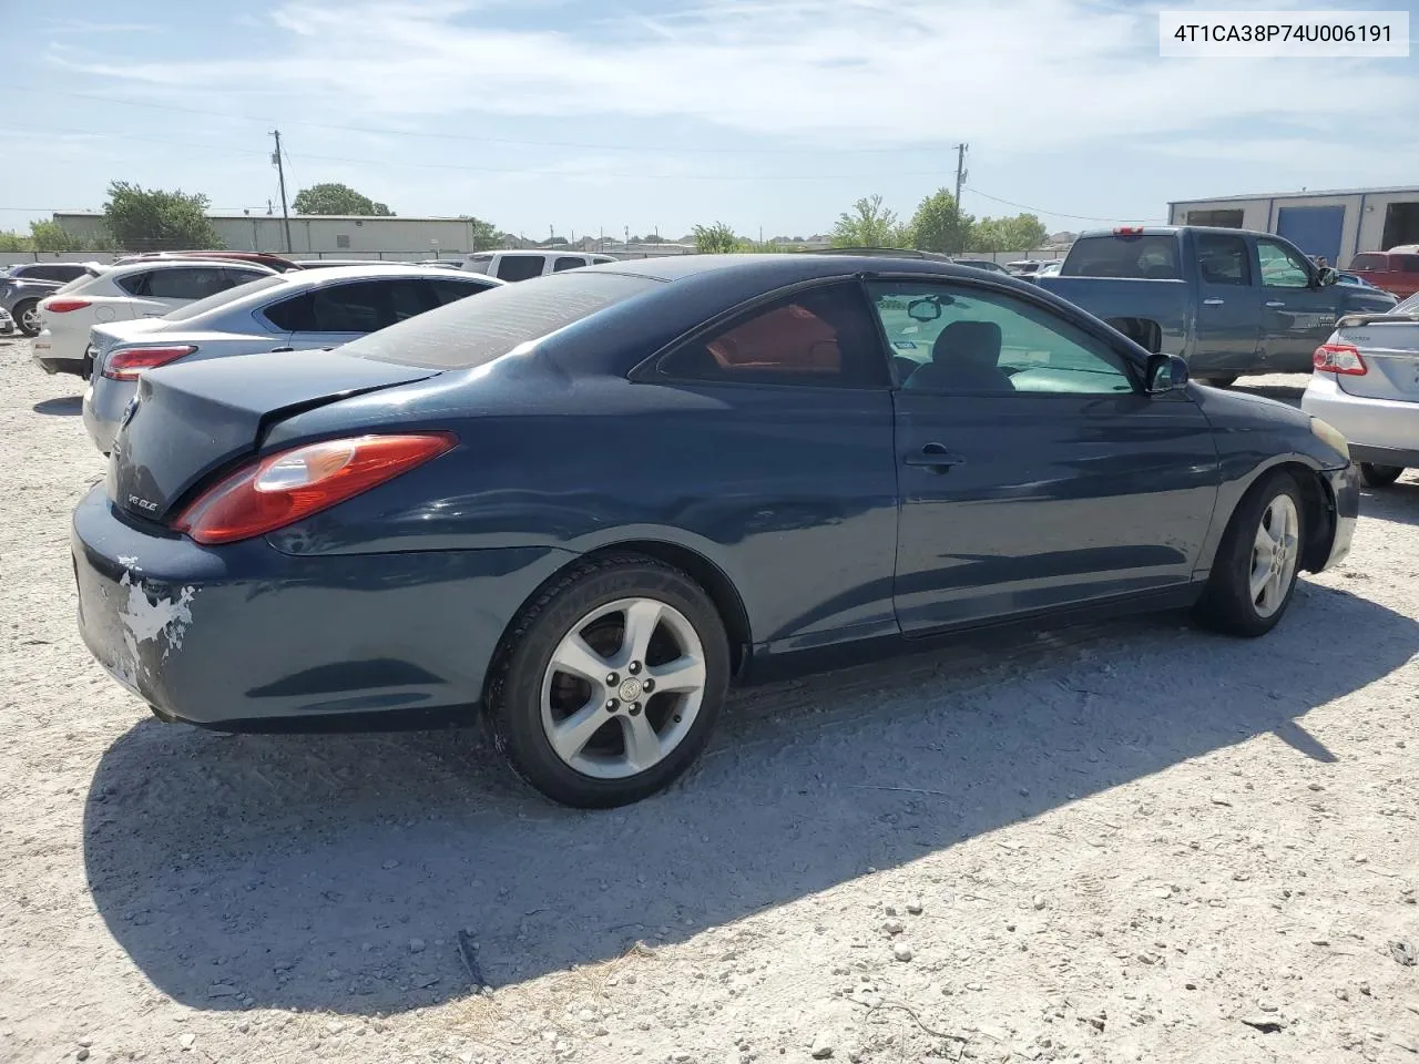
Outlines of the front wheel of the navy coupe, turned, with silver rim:
[[1193,607],[1199,624],[1247,638],[1277,626],[1305,555],[1304,514],[1301,489],[1288,472],[1274,472],[1247,492]]

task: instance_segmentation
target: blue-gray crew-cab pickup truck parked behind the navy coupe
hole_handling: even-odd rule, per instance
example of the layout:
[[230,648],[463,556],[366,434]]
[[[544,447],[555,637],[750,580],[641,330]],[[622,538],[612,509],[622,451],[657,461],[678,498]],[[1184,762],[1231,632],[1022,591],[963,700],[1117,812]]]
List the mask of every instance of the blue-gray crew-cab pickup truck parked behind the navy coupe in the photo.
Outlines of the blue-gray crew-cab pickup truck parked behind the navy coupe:
[[1036,284],[1226,386],[1243,373],[1310,373],[1338,318],[1398,302],[1335,281],[1270,233],[1147,226],[1080,234],[1059,274]]

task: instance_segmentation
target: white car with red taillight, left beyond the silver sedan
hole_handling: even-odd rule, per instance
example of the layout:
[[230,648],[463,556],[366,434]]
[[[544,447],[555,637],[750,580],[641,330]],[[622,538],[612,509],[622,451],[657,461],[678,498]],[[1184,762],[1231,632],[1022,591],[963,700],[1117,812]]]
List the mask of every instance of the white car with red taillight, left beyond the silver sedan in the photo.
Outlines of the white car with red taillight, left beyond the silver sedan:
[[81,279],[40,301],[34,360],[45,373],[87,377],[89,329],[104,322],[160,318],[197,299],[275,274],[255,262],[145,258]]

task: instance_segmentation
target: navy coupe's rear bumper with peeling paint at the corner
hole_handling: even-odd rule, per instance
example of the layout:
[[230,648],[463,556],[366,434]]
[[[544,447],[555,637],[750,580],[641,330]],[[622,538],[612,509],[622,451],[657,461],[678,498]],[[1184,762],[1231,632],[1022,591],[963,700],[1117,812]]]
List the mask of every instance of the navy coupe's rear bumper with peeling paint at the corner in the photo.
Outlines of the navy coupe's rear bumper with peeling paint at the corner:
[[74,512],[72,555],[98,663],[162,719],[227,731],[470,716],[508,621],[570,559],[204,548],[131,526],[102,485]]

